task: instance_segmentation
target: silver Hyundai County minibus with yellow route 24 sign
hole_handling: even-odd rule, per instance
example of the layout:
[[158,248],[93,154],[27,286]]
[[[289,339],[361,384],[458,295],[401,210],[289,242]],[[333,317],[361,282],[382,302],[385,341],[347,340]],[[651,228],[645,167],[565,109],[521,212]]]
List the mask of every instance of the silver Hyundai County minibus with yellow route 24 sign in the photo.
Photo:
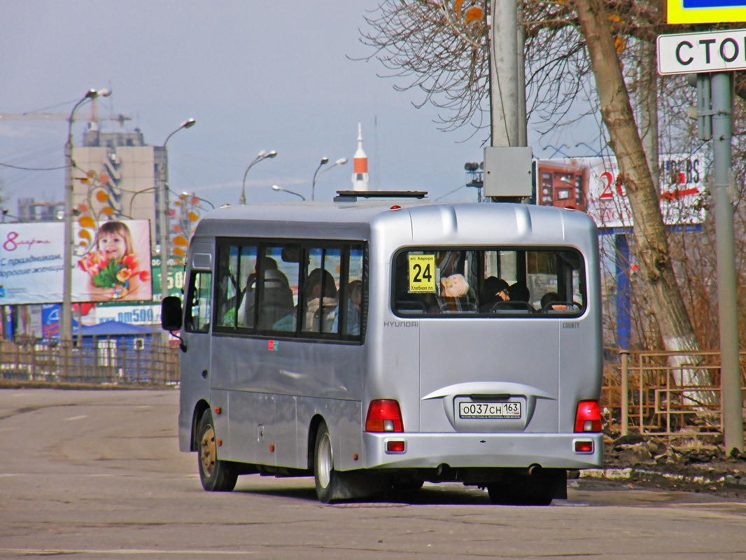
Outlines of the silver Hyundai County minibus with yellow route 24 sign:
[[162,325],[204,489],[258,473],[314,476],[323,503],[424,482],[566,497],[568,470],[602,464],[592,220],[363,194],[198,223]]

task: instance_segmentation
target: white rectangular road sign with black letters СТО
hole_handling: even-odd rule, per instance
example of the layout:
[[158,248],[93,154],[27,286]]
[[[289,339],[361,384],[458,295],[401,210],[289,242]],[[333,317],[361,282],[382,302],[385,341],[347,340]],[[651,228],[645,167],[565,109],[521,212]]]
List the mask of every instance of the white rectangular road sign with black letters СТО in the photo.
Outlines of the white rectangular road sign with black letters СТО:
[[746,69],[746,29],[658,36],[660,75]]

